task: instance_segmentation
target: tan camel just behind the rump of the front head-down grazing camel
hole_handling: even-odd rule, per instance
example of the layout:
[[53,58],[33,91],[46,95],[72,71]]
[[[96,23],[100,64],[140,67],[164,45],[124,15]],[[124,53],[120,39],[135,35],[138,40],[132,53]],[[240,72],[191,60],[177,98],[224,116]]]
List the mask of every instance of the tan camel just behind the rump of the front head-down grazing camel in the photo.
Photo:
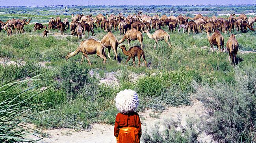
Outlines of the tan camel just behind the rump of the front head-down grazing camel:
[[108,57],[109,59],[111,59],[110,57],[110,50],[111,47],[115,53],[115,60],[117,60],[117,46],[118,46],[118,40],[117,38],[115,38],[115,36],[113,35],[113,33],[108,32],[100,41],[100,43],[102,43],[102,45],[104,45],[106,48],[108,48]]

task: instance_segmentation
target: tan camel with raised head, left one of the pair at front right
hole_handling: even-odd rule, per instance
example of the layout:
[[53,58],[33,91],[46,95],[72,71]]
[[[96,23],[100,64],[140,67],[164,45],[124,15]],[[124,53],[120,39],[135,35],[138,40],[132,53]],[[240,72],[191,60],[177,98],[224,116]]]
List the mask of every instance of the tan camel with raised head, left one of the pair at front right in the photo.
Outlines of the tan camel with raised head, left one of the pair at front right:
[[[215,30],[214,33],[210,36],[210,30],[207,31],[207,38],[210,42],[211,49],[213,50],[213,45],[217,46],[219,51],[223,52],[224,47],[224,37],[221,35],[219,30]],[[221,49],[222,47],[222,49]]]

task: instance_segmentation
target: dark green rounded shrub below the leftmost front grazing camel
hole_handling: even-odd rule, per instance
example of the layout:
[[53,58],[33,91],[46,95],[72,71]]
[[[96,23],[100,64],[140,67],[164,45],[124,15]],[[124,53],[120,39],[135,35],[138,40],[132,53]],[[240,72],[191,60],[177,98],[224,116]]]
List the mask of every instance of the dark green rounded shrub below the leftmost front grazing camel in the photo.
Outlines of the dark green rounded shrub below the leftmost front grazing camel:
[[88,67],[75,61],[65,63],[60,69],[62,87],[66,90],[69,98],[76,98],[79,90],[85,86],[88,78]]

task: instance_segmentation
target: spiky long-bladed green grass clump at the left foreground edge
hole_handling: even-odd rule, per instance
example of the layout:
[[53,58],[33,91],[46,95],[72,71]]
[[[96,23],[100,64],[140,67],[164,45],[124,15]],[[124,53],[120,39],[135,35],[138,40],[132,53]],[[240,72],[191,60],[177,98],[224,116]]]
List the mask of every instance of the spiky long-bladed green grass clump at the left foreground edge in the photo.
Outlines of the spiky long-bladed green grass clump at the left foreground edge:
[[[41,137],[39,137],[39,135],[42,133],[35,129],[30,129],[29,127],[26,127],[28,123],[24,122],[24,119],[36,120],[35,118],[32,118],[32,116],[41,113],[39,112],[31,115],[30,112],[33,109],[39,107],[40,105],[33,105],[27,102],[28,100],[30,100],[30,98],[37,96],[39,93],[33,94],[24,100],[17,99],[19,98],[19,96],[22,95],[22,93],[25,93],[33,88],[15,93],[15,89],[19,88],[20,85],[25,84],[33,79],[34,78],[30,80],[21,80],[15,83],[7,83],[4,85],[0,85],[0,96],[3,96],[5,94],[15,94],[16,96],[13,99],[6,99],[0,102],[1,143],[36,143],[37,141],[42,139]],[[28,138],[29,135],[36,136],[37,139],[30,139]]]

